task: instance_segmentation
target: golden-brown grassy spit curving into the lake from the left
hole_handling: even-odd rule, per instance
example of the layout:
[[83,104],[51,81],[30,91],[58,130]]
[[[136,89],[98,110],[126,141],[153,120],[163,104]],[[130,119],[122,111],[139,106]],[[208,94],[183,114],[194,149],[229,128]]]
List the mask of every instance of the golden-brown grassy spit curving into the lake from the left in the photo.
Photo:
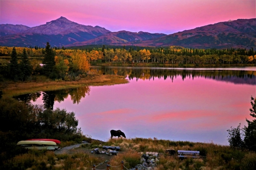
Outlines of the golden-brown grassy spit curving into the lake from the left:
[[78,81],[51,80],[46,76],[34,76],[28,82],[2,81],[0,89],[3,96],[18,96],[21,94],[35,93],[38,91],[53,91],[81,86],[104,86],[128,83],[123,76],[88,74]]

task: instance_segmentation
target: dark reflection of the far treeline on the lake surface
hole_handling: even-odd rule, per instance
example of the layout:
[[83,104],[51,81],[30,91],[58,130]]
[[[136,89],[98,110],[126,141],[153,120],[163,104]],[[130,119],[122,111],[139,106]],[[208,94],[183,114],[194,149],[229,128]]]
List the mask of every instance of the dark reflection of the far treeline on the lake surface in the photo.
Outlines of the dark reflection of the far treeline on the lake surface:
[[176,70],[176,69],[151,69],[151,68],[123,68],[123,67],[93,67],[90,72],[95,72],[96,74],[112,74],[127,76],[131,79],[142,79],[142,80],[154,80],[154,78],[164,78],[174,80],[176,77],[182,77],[182,80],[186,78],[212,78],[218,80],[235,78],[248,78],[252,81],[248,81],[248,84],[256,84],[255,71],[244,71],[244,70]]

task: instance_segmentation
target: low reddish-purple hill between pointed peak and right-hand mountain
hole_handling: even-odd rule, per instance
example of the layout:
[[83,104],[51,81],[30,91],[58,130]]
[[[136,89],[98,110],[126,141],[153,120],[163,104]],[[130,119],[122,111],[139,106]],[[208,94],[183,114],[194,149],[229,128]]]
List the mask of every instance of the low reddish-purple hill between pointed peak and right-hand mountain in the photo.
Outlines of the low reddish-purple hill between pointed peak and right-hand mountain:
[[118,31],[107,33],[83,42],[76,42],[67,46],[81,46],[90,44],[105,44],[105,45],[120,45],[132,41],[144,41],[152,38],[162,37],[166,34],[163,33],[148,33],[148,32],[130,32],[130,31]]

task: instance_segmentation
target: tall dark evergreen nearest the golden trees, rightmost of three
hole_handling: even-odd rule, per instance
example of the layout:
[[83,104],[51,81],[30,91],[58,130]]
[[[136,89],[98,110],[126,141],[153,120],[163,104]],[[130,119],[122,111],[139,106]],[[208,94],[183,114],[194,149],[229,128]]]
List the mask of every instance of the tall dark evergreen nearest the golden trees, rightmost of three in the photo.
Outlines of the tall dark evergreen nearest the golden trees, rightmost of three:
[[43,62],[44,64],[44,72],[46,75],[50,75],[52,70],[54,69],[55,61],[54,61],[54,53],[52,49],[50,49],[50,44],[47,42],[45,51],[44,51],[44,59]]

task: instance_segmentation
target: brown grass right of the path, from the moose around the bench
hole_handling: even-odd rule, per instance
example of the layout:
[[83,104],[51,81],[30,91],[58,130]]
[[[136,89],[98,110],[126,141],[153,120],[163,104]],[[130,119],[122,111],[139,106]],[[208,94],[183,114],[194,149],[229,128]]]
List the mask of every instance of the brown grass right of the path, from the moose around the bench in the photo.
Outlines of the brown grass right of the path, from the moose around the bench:
[[[153,139],[109,139],[106,144],[120,146],[130,152],[159,152],[158,170],[254,170],[256,169],[256,153],[248,150],[233,149],[229,146],[211,143],[193,143],[189,141],[169,141]],[[200,158],[180,159],[177,155],[165,155],[165,150],[198,150]],[[121,154],[120,154],[121,155]],[[122,158],[120,158],[122,159]],[[120,164],[120,159],[110,161]],[[124,158],[123,158],[124,159]]]

